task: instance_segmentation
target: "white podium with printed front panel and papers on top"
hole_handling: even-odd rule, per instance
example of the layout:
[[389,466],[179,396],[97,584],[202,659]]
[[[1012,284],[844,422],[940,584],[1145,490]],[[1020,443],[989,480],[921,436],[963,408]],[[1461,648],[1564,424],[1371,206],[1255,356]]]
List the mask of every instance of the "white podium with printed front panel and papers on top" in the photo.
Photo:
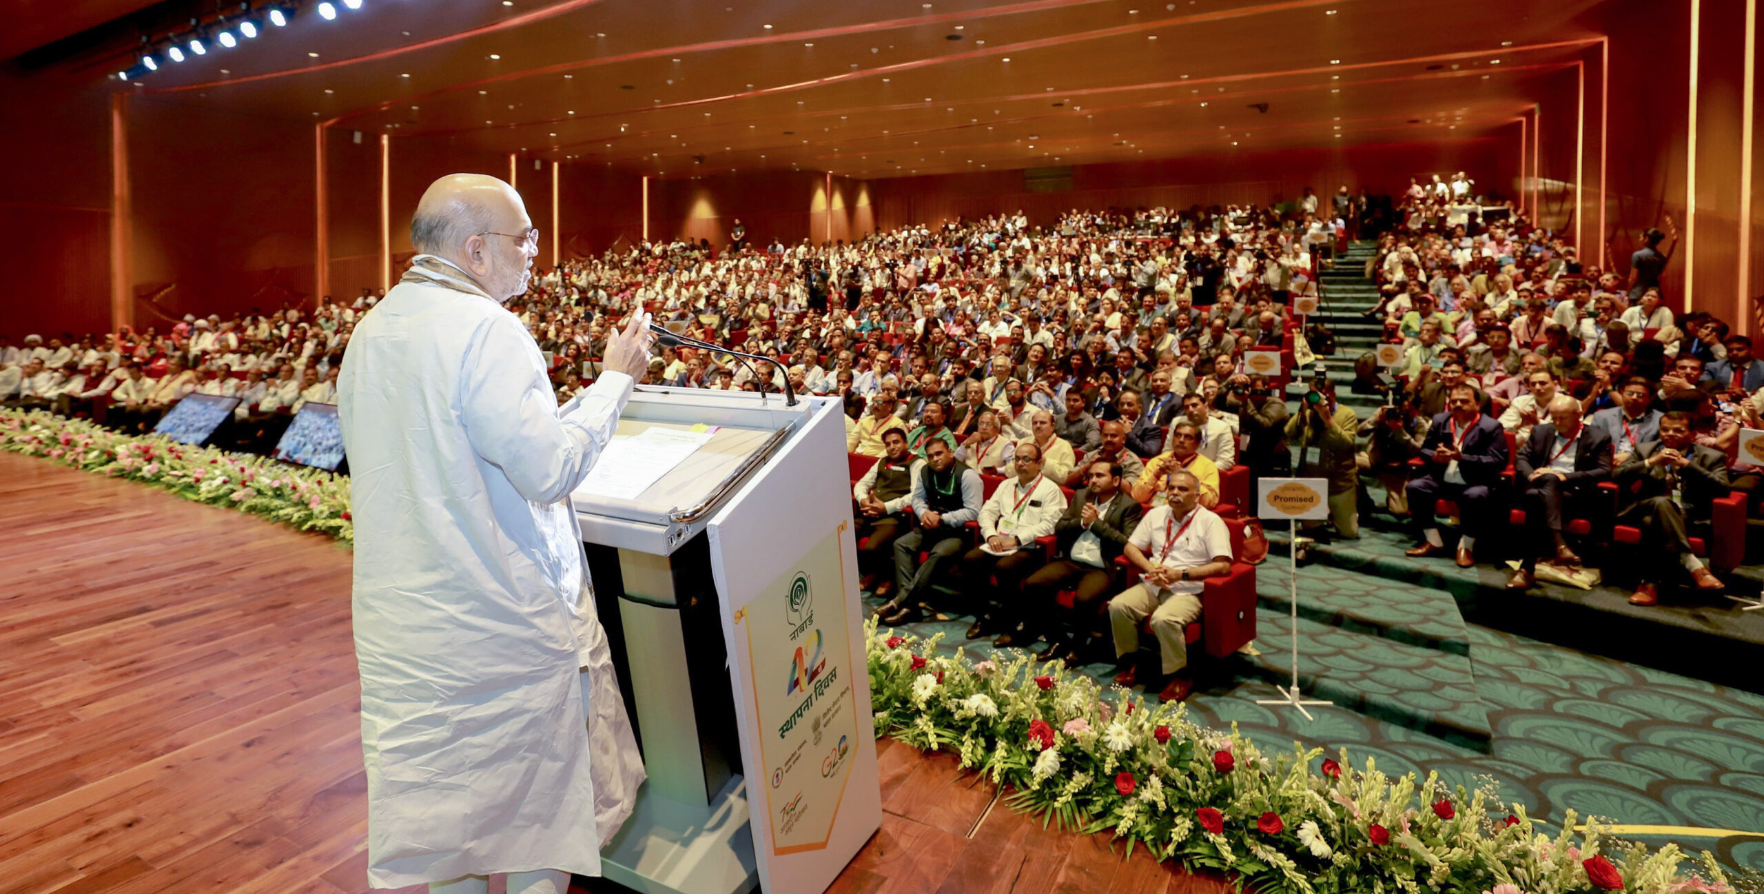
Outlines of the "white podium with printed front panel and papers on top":
[[882,823],[841,402],[637,386],[572,503],[649,772],[605,876],[826,890]]

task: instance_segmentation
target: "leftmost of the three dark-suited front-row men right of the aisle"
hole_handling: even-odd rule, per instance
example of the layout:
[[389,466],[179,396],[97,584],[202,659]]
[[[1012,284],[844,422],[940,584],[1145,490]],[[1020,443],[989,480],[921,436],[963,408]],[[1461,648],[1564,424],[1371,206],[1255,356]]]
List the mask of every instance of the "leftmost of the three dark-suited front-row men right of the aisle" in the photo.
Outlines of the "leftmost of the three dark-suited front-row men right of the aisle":
[[1406,555],[1420,559],[1446,552],[1434,508],[1450,499],[1461,513],[1457,566],[1469,568],[1476,564],[1476,536],[1487,531],[1494,490],[1506,471],[1506,436],[1501,423],[1476,409],[1476,390],[1468,384],[1452,390],[1446,407],[1427,427],[1427,439],[1422,441],[1425,466],[1408,483],[1409,513],[1422,543]]

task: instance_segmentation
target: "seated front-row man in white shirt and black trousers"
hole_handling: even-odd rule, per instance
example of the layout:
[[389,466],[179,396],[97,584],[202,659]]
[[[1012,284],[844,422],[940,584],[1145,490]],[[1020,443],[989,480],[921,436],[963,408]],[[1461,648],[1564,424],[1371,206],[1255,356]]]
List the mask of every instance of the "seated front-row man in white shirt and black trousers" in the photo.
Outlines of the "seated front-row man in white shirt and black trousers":
[[[1018,444],[1016,481],[998,485],[981,506],[981,545],[961,557],[961,580],[977,603],[970,640],[1002,626],[993,645],[1013,645],[1027,612],[1041,608],[1023,600],[1023,580],[1046,557],[1035,538],[1051,534],[1065,511],[1065,494],[1041,469],[1041,448],[1032,441]],[[988,585],[990,580],[997,580],[997,587]]]

